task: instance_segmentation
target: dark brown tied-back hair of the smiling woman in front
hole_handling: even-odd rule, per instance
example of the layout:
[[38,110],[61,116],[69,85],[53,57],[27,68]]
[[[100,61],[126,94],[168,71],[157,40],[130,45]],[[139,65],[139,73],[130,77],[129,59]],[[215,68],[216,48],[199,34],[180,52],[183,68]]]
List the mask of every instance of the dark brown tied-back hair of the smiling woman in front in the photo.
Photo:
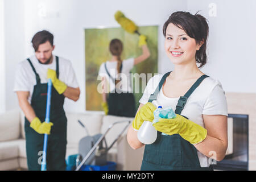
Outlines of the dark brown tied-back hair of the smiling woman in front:
[[[197,12],[198,13],[198,12]],[[207,19],[199,14],[192,15],[189,12],[177,11],[172,13],[166,23],[163,25],[163,35],[166,37],[166,28],[168,24],[172,23],[176,27],[184,30],[189,37],[196,39],[196,43],[199,44],[202,40],[204,44],[196,51],[196,63],[199,63],[199,68],[203,67],[207,63],[207,39],[209,34],[209,26]]]

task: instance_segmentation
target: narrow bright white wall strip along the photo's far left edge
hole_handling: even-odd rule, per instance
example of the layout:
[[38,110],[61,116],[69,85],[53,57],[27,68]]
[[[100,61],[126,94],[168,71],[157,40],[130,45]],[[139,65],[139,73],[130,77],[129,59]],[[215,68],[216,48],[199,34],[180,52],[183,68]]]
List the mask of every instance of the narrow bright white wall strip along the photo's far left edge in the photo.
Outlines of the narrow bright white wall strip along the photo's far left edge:
[[0,113],[5,111],[5,11],[0,0]]

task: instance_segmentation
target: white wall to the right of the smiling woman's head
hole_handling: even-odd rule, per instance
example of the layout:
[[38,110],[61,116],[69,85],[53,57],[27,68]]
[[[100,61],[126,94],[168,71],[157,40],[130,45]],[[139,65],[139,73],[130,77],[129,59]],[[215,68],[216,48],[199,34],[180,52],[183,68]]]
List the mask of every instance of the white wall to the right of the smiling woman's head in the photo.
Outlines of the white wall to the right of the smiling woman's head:
[[[256,1],[188,0],[188,11],[209,20],[209,63],[203,72],[221,81],[226,92],[256,93]],[[216,17],[209,16],[210,3]]]

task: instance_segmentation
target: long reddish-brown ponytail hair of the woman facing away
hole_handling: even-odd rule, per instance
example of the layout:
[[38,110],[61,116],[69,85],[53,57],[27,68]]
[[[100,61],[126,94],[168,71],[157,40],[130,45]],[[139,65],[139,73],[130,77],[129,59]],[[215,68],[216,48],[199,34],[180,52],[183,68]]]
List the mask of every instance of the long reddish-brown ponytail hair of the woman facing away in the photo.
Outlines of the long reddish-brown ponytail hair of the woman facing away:
[[[123,43],[119,39],[112,39],[109,44],[109,51],[112,53],[113,56],[117,56],[117,72],[121,72],[121,53],[123,51]],[[120,80],[116,80],[115,84],[117,84]]]

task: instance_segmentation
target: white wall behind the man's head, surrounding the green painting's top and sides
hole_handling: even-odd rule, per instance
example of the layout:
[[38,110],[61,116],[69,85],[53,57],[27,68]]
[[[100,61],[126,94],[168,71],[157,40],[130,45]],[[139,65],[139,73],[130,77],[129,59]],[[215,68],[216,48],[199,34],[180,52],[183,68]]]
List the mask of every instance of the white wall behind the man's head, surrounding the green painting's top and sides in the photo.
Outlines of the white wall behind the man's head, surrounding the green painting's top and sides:
[[[138,26],[159,25],[159,60],[168,59],[163,51],[162,25],[172,11],[186,7],[183,1],[83,1],[83,0],[25,0],[25,55],[33,54],[31,38],[35,32],[47,29],[55,36],[55,53],[72,61],[79,81],[79,101],[65,101],[68,111],[85,111],[85,46],[84,28],[98,26],[119,27],[114,13],[121,10]],[[38,15],[41,14],[41,17]],[[45,17],[43,15],[46,15]],[[24,57],[20,58],[24,59]],[[167,61],[170,64],[170,61]],[[160,72],[164,65],[159,64]]]

